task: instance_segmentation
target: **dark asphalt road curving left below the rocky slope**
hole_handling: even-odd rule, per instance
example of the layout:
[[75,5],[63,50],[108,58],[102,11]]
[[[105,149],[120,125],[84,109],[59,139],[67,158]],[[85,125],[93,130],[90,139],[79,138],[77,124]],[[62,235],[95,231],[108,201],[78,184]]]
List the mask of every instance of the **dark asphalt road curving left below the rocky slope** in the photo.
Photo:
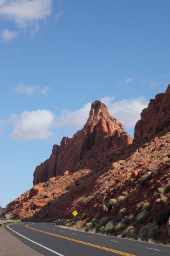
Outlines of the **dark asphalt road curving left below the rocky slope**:
[[21,223],[7,230],[48,256],[169,256],[170,247],[56,227],[52,223]]

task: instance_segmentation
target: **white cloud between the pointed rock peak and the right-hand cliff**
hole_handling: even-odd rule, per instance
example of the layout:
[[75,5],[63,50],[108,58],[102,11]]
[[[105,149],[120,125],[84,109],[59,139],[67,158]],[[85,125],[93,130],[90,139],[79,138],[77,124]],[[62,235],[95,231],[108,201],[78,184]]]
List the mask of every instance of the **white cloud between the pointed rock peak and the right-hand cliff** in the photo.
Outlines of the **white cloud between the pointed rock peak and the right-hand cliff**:
[[140,119],[140,113],[143,108],[148,106],[148,102],[144,97],[120,101],[113,100],[114,97],[101,98],[101,101],[108,106],[110,114],[123,123],[125,128],[134,128],[134,125]]

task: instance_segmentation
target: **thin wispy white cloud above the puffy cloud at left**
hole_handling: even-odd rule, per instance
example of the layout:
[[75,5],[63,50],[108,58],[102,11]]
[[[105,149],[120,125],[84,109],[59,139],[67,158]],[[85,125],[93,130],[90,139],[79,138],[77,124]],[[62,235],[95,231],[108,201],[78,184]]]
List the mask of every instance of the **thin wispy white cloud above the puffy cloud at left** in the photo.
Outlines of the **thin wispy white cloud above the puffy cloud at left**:
[[41,86],[26,86],[25,84],[20,84],[14,89],[14,92],[31,97],[35,94],[48,95],[49,89],[48,86],[42,88]]

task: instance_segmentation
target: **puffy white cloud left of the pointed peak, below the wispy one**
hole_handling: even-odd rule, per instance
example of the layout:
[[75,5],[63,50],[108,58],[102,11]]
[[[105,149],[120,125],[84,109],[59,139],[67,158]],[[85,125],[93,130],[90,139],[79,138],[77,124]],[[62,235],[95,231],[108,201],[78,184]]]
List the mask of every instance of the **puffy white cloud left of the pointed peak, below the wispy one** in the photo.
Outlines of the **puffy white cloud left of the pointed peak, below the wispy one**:
[[11,139],[29,141],[32,139],[48,139],[51,135],[50,127],[54,121],[54,114],[49,110],[24,111],[22,115],[14,115],[14,129]]

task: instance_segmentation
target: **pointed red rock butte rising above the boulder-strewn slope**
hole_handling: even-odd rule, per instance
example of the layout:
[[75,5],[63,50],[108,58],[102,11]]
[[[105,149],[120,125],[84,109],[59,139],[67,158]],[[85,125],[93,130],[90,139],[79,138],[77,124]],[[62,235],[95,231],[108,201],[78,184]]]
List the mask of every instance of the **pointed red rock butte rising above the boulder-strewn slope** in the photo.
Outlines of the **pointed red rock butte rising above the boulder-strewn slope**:
[[71,139],[63,137],[60,146],[53,147],[50,158],[36,167],[34,185],[63,175],[66,170],[74,172],[81,160],[88,163],[91,158],[99,158],[130,143],[132,138],[124,131],[123,125],[111,117],[108,108],[97,100],[91,104],[89,119],[83,129]]

